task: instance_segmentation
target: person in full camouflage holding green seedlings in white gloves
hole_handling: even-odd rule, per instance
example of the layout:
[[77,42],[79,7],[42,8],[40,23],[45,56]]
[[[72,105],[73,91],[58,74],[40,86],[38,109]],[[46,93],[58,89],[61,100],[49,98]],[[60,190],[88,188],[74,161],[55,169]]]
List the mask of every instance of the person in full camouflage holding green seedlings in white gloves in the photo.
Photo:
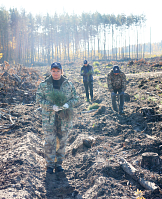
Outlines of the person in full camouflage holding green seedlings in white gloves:
[[[63,94],[66,102],[62,106],[51,101],[49,96],[53,91]],[[47,173],[52,174],[54,169],[55,173],[61,172],[68,130],[72,128],[72,110],[78,102],[78,96],[72,82],[62,75],[60,63],[55,62],[51,65],[51,76],[40,83],[36,92],[36,102],[42,107]]]

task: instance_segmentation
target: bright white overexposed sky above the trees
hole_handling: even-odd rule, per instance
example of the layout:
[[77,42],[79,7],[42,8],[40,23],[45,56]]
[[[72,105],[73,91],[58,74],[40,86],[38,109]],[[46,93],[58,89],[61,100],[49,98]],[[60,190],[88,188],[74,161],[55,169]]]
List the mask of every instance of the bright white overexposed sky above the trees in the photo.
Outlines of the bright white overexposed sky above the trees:
[[125,14],[126,16],[144,14],[147,18],[145,42],[150,41],[150,28],[151,42],[162,40],[161,5],[161,0],[4,0],[3,3],[0,3],[0,7],[6,10],[25,9],[27,13],[31,12],[33,15],[46,15],[47,13],[54,15],[55,12],[80,15],[83,12],[94,13],[96,11],[101,14]]

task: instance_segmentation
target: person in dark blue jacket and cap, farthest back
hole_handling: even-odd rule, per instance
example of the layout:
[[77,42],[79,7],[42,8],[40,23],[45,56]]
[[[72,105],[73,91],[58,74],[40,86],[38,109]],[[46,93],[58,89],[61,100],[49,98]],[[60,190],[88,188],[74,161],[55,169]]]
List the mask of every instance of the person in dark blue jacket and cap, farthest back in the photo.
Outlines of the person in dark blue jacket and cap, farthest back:
[[91,101],[93,101],[93,67],[88,64],[87,60],[84,60],[84,65],[81,68],[81,76],[83,76],[87,101],[89,102],[89,90]]

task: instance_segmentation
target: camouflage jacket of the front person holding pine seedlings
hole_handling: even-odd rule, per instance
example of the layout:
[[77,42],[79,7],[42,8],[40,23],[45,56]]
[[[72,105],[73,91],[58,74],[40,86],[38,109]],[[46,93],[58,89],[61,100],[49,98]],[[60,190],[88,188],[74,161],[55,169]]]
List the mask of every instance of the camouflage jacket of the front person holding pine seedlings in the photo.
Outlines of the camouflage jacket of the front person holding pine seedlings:
[[[38,87],[38,90],[36,92],[36,103],[40,104],[42,107],[42,117],[46,115],[46,117],[53,118],[52,120],[55,120],[55,112],[53,111],[53,105],[48,99],[48,94],[53,91],[53,81],[52,76],[48,77],[44,81],[42,81]],[[64,79],[61,87],[60,92],[63,92],[67,99],[67,104],[69,105],[69,108],[66,110],[59,111],[59,115],[61,118],[61,114],[64,112],[68,112],[68,110],[72,110],[72,108],[78,103],[78,96],[75,90],[75,87],[73,86],[72,82],[68,81],[68,79]],[[62,114],[65,115],[65,114]],[[65,127],[70,127],[69,118],[63,117],[62,119],[62,129],[65,130]]]

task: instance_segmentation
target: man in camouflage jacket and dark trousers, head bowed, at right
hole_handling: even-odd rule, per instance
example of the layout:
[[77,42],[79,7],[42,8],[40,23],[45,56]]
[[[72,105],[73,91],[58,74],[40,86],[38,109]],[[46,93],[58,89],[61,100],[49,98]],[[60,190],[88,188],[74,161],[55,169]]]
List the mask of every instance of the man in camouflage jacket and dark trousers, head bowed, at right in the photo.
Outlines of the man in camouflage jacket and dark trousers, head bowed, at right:
[[116,105],[116,94],[118,93],[120,96],[120,104],[119,104],[119,114],[124,114],[124,92],[126,90],[126,76],[119,69],[119,66],[115,65],[110,73],[107,75],[107,84],[109,91],[111,92],[112,106],[113,109],[118,112],[118,108]]

